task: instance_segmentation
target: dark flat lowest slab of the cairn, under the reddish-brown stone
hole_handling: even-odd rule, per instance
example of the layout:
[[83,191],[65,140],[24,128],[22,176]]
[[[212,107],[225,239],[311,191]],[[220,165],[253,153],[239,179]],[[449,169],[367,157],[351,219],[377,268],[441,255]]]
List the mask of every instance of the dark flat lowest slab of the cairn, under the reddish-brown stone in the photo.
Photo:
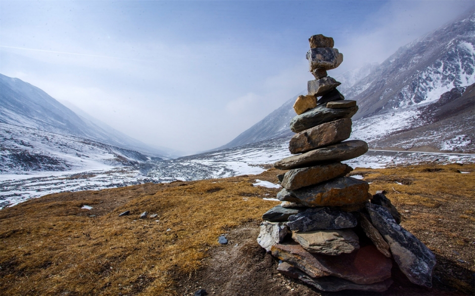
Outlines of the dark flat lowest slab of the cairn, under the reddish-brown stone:
[[293,267],[287,262],[282,262],[277,267],[277,270],[288,276],[295,279],[299,279],[307,285],[317,288],[320,291],[326,292],[338,292],[342,290],[358,290],[358,291],[368,291],[368,292],[384,292],[389,286],[393,283],[391,279],[384,280],[382,282],[369,284],[369,285],[358,285],[348,280],[340,279],[334,276],[323,276],[319,278],[313,278],[301,271],[298,268]]

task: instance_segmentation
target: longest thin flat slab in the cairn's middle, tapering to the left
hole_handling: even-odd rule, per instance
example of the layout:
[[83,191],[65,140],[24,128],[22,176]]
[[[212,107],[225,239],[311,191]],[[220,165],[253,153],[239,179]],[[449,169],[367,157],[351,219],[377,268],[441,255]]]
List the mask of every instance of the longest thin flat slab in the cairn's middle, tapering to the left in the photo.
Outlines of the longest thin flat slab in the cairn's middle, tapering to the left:
[[318,148],[299,155],[292,155],[276,161],[274,167],[290,170],[333,161],[343,161],[361,156],[368,151],[368,144],[361,140],[351,140]]

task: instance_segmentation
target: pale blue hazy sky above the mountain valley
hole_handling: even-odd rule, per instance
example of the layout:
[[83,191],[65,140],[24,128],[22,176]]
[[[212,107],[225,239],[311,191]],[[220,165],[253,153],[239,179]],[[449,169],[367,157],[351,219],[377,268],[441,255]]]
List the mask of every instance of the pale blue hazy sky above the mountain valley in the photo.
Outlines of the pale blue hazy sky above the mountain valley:
[[308,38],[330,76],[382,62],[467,1],[0,1],[0,73],[154,147],[225,145],[305,90]]

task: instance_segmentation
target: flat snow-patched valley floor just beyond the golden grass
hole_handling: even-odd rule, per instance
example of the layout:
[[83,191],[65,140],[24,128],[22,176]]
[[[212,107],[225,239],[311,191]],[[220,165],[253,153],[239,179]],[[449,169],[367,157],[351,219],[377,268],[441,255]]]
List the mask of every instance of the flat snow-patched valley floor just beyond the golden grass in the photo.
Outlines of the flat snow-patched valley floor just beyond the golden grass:
[[[173,160],[148,162],[140,168],[107,166],[102,170],[3,174],[0,175],[0,209],[57,192],[260,174],[275,161],[291,155],[287,148],[288,140],[283,138]],[[346,161],[353,168],[454,162],[475,163],[475,154],[370,150],[363,156]]]

